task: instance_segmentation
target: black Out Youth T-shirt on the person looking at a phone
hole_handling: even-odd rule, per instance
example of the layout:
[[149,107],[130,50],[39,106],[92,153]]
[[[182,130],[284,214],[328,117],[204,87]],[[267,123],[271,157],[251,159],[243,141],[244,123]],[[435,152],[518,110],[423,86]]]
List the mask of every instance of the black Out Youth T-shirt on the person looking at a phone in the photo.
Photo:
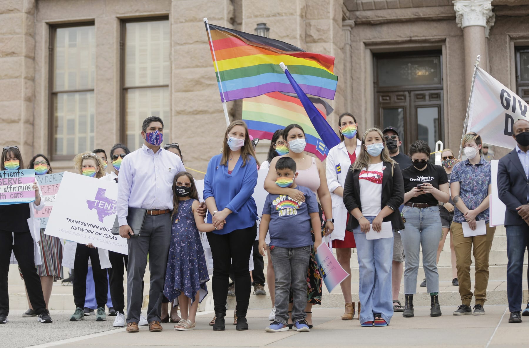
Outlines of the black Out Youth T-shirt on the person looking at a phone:
[[[414,166],[408,167],[402,171],[404,179],[404,192],[409,192],[412,188],[423,182],[429,182],[433,187],[439,189],[440,185],[448,182],[448,177],[443,167],[428,163],[424,170],[418,170]],[[432,194],[423,194],[408,200],[409,203],[426,203],[437,205],[439,201]]]

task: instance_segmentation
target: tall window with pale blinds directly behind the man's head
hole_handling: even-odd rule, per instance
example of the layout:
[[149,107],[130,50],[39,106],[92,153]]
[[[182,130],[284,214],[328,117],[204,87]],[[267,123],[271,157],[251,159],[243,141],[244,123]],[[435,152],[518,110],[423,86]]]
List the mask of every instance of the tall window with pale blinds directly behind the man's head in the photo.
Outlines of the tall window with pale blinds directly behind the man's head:
[[122,138],[135,150],[141,147],[143,120],[163,120],[164,143],[170,139],[169,20],[122,23]]

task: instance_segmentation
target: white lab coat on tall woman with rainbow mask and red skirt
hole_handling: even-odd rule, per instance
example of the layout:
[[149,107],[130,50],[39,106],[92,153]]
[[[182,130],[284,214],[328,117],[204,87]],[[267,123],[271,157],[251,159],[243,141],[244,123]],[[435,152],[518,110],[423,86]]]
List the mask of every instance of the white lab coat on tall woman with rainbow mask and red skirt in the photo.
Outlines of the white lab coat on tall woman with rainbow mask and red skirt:
[[[357,140],[357,149],[355,153],[360,154],[360,146],[362,142]],[[326,176],[327,176],[327,186],[329,186],[329,191],[331,191],[331,200],[332,200],[332,217],[334,218],[334,231],[331,233],[331,240],[341,240],[345,238],[345,225],[347,222],[347,209],[343,204],[342,197],[333,194],[333,191],[338,187],[343,187],[345,182],[345,177],[347,176],[347,171],[351,166],[351,160],[349,159],[349,153],[345,148],[345,142],[334,146],[329,150],[327,155],[327,164],[326,164]]]

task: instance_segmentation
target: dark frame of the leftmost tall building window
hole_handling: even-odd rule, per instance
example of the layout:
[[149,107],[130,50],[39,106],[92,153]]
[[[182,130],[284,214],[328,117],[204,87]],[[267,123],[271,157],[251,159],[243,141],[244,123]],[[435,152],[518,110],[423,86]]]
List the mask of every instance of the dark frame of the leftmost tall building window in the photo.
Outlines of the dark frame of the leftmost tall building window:
[[[94,92],[95,95],[95,83],[94,88],[92,89],[72,89],[72,90],[54,90],[53,83],[55,77],[55,39],[57,34],[57,29],[62,28],[77,28],[79,26],[94,26],[95,21],[84,21],[84,22],[74,22],[74,23],[65,23],[65,24],[53,24],[49,25],[49,45],[48,45],[48,154],[50,161],[65,161],[71,160],[71,155],[62,155],[55,154],[54,138],[55,138],[55,116],[53,96],[59,93],[80,93],[80,92]],[[97,47],[97,38],[96,38],[96,47]],[[95,81],[94,81],[95,82]],[[87,150],[90,151],[90,150]]]

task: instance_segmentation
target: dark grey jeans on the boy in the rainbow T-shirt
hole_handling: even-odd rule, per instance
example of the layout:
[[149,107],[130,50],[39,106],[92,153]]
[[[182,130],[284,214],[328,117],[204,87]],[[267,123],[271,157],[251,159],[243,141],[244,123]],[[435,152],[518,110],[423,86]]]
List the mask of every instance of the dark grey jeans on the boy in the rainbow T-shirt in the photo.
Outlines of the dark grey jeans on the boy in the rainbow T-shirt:
[[311,258],[312,245],[300,248],[270,248],[273,271],[276,273],[276,322],[287,325],[288,300],[292,287],[292,322],[305,320],[307,305],[308,260]]

